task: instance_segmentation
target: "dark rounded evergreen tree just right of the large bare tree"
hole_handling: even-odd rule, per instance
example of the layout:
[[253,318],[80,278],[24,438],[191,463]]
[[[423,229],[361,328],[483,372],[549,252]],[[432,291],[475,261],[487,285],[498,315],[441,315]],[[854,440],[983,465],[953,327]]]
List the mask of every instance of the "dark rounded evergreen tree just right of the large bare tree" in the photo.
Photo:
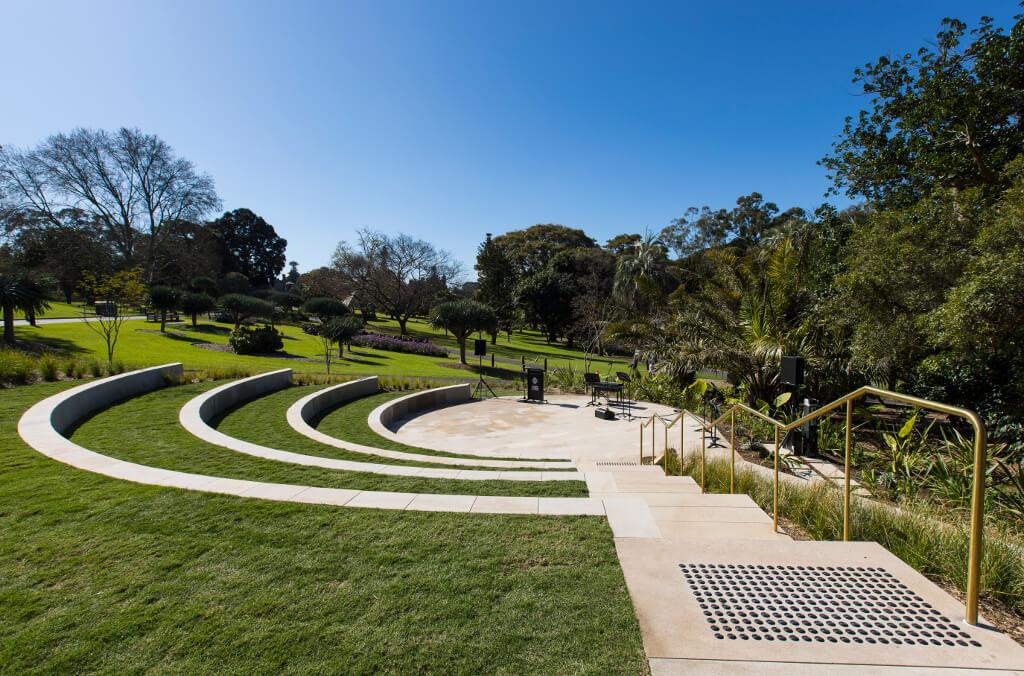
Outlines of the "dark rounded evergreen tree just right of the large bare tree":
[[288,242],[249,209],[236,209],[210,223],[217,234],[224,271],[241,272],[259,287],[272,286],[285,267]]

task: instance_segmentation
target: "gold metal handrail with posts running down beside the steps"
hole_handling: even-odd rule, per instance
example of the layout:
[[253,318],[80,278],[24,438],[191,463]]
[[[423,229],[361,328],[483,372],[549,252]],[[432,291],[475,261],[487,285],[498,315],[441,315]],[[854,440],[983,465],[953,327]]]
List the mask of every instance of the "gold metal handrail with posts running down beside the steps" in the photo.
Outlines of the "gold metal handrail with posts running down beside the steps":
[[[955,416],[967,420],[971,426],[974,428],[974,477],[971,491],[971,526],[970,526],[970,550],[968,554],[968,574],[967,574],[967,602],[966,602],[966,616],[967,623],[970,625],[978,624],[978,595],[980,592],[981,584],[981,558],[982,558],[982,547],[983,547],[983,537],[984,537],[984,518],[985,518],[985,466],[987,463],[986,458],[986,433],[985,433],[985,423],[982,422],[981,418],[974,411],[969,409],[963,409],[961,407],[949,406],[947,404],[942,404],[940,402],[932,402],[929,399],[924,399],[918,396],[911,396],[909,394],[901,394],[900,392],[892,392],[885,389],[880,389],[878,387],[864,386],[856,389],[848,394],[844,394],[838,399],[826,404],[825,406],[812,411],[802,418],[798,418],[791,423],[783,423],[779,420],[767,416],[764,413],[753,409],[744,404],[736,404],[729,408],[728,411],[721,414],[718,418],[712,421],[708,421],[702,416],[697,416],[695,414],[689,413],[686,410],[681,411],[670,423],[665,423],[665,449],[666,455],[669,451],[669,428],[680,423],[680,436],[679,436],[679,454],[680,454],[680,470],[682,469],[682,458],[685,452],[685,447],[683,445],[685,425],[681,423],[685,419],[686,415],[691,415],[701,427],[700,434],[700,492],[707,492],[707,481],[706,481],[706,471],[705,466],[707,464],[707,435],[705,432],[712,430],[717,425],[723,423],[726,418],[729,419],[729,493],[735,491],[735,475],[736,475],[736,443],[735,443],[735,429],[736,429],[736,415],[750,415],[758,418],[764,422],[767,422],[774,427],[775,430],[775,452],[774,452],[774,467],[773,467],[773,487],[772,487],[772,527],[777,533],[778,532],[778,505],[779,505],[779,446],[781,435],[793,429],[796,429],[812,420],[820,418],[822,416],[828,415],[837,409],[846,407],[846,434],[845,434],[845,453],[843,459],[843,540],[848,541],[850,539],[850,450],[853,446],[853,404],[857,399],[860,399],[867,395],[878,396],[884,399],[890,399],[895,402],[900,402],[902,404],[908,404],[918,409],[924,409],[927,411],[936,411],[938,413],[943,413],[947,416]],[[654,423],[658,420],[656,415],[651,415],[646,421],[640,425],[640,464],[643,464],[643,430],[646,427],[651,428],[650,440],[651,440],[651,455],[654,456]],[[666,466],[668,466],[668,461],[666,461]],[[668,471],[668,470],[666,470]]]

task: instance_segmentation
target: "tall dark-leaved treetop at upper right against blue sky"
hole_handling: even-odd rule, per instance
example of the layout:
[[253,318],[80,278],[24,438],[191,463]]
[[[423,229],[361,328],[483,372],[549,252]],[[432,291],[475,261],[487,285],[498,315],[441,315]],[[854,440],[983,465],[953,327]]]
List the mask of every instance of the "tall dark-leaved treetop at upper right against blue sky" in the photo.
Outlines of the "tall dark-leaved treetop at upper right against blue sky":
[[883,56],[853,82],[869,105],[821,161],[837,191],[906,207],[936,189],[1006,187],[1024,152],[1024,15],[1009,31],[946,18],[934,46]]

